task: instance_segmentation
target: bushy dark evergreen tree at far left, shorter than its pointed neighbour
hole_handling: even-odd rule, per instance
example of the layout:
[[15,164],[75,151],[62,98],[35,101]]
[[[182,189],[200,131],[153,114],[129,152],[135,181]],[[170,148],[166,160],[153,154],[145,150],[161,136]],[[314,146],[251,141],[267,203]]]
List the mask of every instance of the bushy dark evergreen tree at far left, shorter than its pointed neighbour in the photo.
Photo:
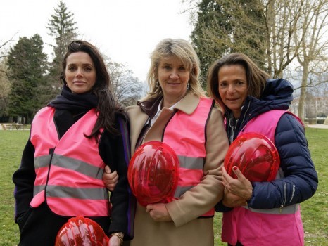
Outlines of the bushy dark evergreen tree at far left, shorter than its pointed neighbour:
[[8,53],[8,78],[11,82],[9,115],[25,117],[27,122],[42,107],[39,86],[44,84],[47,68],[43,45],[39,34],[34,34],[30,39],[20,37]]

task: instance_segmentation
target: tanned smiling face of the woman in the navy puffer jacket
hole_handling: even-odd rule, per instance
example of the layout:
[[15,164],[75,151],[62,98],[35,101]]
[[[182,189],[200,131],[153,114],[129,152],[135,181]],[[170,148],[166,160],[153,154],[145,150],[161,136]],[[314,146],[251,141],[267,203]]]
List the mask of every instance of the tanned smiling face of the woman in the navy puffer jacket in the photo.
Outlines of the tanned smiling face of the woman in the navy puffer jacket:
[[219,94],[222,102],[239,119],[247,96],[246,70],[242,65],[224,65],[218,71]]

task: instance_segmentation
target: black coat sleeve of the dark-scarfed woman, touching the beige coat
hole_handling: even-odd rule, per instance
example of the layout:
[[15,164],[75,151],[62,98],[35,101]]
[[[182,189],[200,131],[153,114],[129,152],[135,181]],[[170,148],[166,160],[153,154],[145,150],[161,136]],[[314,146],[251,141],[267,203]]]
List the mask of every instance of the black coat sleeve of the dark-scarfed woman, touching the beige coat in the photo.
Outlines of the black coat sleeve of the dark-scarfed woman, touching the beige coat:
[[111,226],[108,235],[114,232],[122,232],[125,240],[133,238],[135,199],[127,181],[127,166],[130,161],[130,140],[127,132],[127,119],[118,119],[115,125],[120,134],[105,133],[99,145],[99,151],[103,161],[118,172],[118,183],[111,193]]

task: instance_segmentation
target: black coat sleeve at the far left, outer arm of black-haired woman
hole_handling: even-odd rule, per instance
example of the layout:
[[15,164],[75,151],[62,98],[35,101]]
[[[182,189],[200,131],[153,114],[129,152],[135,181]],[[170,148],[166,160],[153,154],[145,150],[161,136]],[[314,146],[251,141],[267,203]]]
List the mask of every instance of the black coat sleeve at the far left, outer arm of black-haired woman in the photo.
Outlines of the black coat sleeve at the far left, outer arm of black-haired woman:
[[29,139],[23,151],[20,167],[13,174],[16,223],[18,222],[18,218],[30,208],[35,178],[34,146]]

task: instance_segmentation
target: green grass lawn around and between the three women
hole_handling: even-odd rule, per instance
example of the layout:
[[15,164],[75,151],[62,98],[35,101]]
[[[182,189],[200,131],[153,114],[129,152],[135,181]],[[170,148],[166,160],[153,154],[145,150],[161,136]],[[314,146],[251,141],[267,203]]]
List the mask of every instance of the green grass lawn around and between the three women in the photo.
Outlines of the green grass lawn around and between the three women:
[[[30,131],[0,131],[0,245],[18,245],[18,225],[13,221],[13,172],[20,165],[20,157]],[[301,205],[305,245],[327,245],[328,242],[328,129],[306,129],[308,144],[319,175],[317,193]],[[215,245],[220,242],[222,214],[215,214]]]

